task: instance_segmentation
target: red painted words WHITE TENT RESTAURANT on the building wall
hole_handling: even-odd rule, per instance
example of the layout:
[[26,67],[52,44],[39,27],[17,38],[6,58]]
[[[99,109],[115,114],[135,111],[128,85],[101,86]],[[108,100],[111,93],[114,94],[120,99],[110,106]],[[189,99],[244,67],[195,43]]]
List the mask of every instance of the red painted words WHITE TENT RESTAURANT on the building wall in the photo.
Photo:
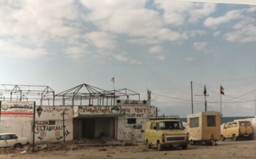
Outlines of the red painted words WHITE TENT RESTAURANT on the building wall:
[[145,107],[131,108],[130,106],[129,107],[122,106],[121,113],[122,115],[119,116],[120,118],[132,118],[132,117],[146,118],[147,108]]

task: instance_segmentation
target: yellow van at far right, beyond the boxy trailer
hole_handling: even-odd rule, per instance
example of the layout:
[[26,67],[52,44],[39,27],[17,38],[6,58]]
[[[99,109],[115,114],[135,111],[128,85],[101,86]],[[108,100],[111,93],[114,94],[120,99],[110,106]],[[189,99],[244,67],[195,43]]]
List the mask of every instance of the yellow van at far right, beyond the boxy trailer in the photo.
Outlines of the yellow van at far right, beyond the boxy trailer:
[[250,121],[240,120],[228,122],[224,124],[221,130],[221,140],[233,139],[236,141],[238,137],[248,137],[248,139],[252,139],[253,134],[254,132]]

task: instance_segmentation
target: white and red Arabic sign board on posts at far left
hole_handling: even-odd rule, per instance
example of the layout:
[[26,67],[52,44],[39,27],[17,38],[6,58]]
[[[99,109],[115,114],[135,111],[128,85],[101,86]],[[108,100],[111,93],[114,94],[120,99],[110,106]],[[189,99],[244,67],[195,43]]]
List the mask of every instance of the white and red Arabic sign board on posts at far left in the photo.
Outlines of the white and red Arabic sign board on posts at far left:
[[33,102],[1,101],[0,115],[33,117]]

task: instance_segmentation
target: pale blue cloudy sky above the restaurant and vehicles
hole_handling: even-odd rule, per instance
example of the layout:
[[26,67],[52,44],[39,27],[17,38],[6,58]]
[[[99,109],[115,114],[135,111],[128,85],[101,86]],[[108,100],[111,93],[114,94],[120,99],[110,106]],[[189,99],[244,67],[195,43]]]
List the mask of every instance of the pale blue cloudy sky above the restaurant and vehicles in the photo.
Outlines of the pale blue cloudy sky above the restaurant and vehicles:
[[[255,116],[256,6],[168,0],[0,1],[0,84],[128,88],[159,114]],[[174,99],[177,98],[177,99]]]

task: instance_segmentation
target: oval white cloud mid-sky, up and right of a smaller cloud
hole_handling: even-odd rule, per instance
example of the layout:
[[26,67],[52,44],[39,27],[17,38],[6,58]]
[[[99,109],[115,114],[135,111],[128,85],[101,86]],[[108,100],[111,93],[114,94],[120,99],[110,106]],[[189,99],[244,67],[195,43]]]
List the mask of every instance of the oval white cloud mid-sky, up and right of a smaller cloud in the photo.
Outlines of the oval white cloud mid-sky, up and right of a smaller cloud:
[[114,35],[106,32],[90,32],[85,34],[85,39],[92,42],[96,47],[101,49],[114,49],[116,41]]

